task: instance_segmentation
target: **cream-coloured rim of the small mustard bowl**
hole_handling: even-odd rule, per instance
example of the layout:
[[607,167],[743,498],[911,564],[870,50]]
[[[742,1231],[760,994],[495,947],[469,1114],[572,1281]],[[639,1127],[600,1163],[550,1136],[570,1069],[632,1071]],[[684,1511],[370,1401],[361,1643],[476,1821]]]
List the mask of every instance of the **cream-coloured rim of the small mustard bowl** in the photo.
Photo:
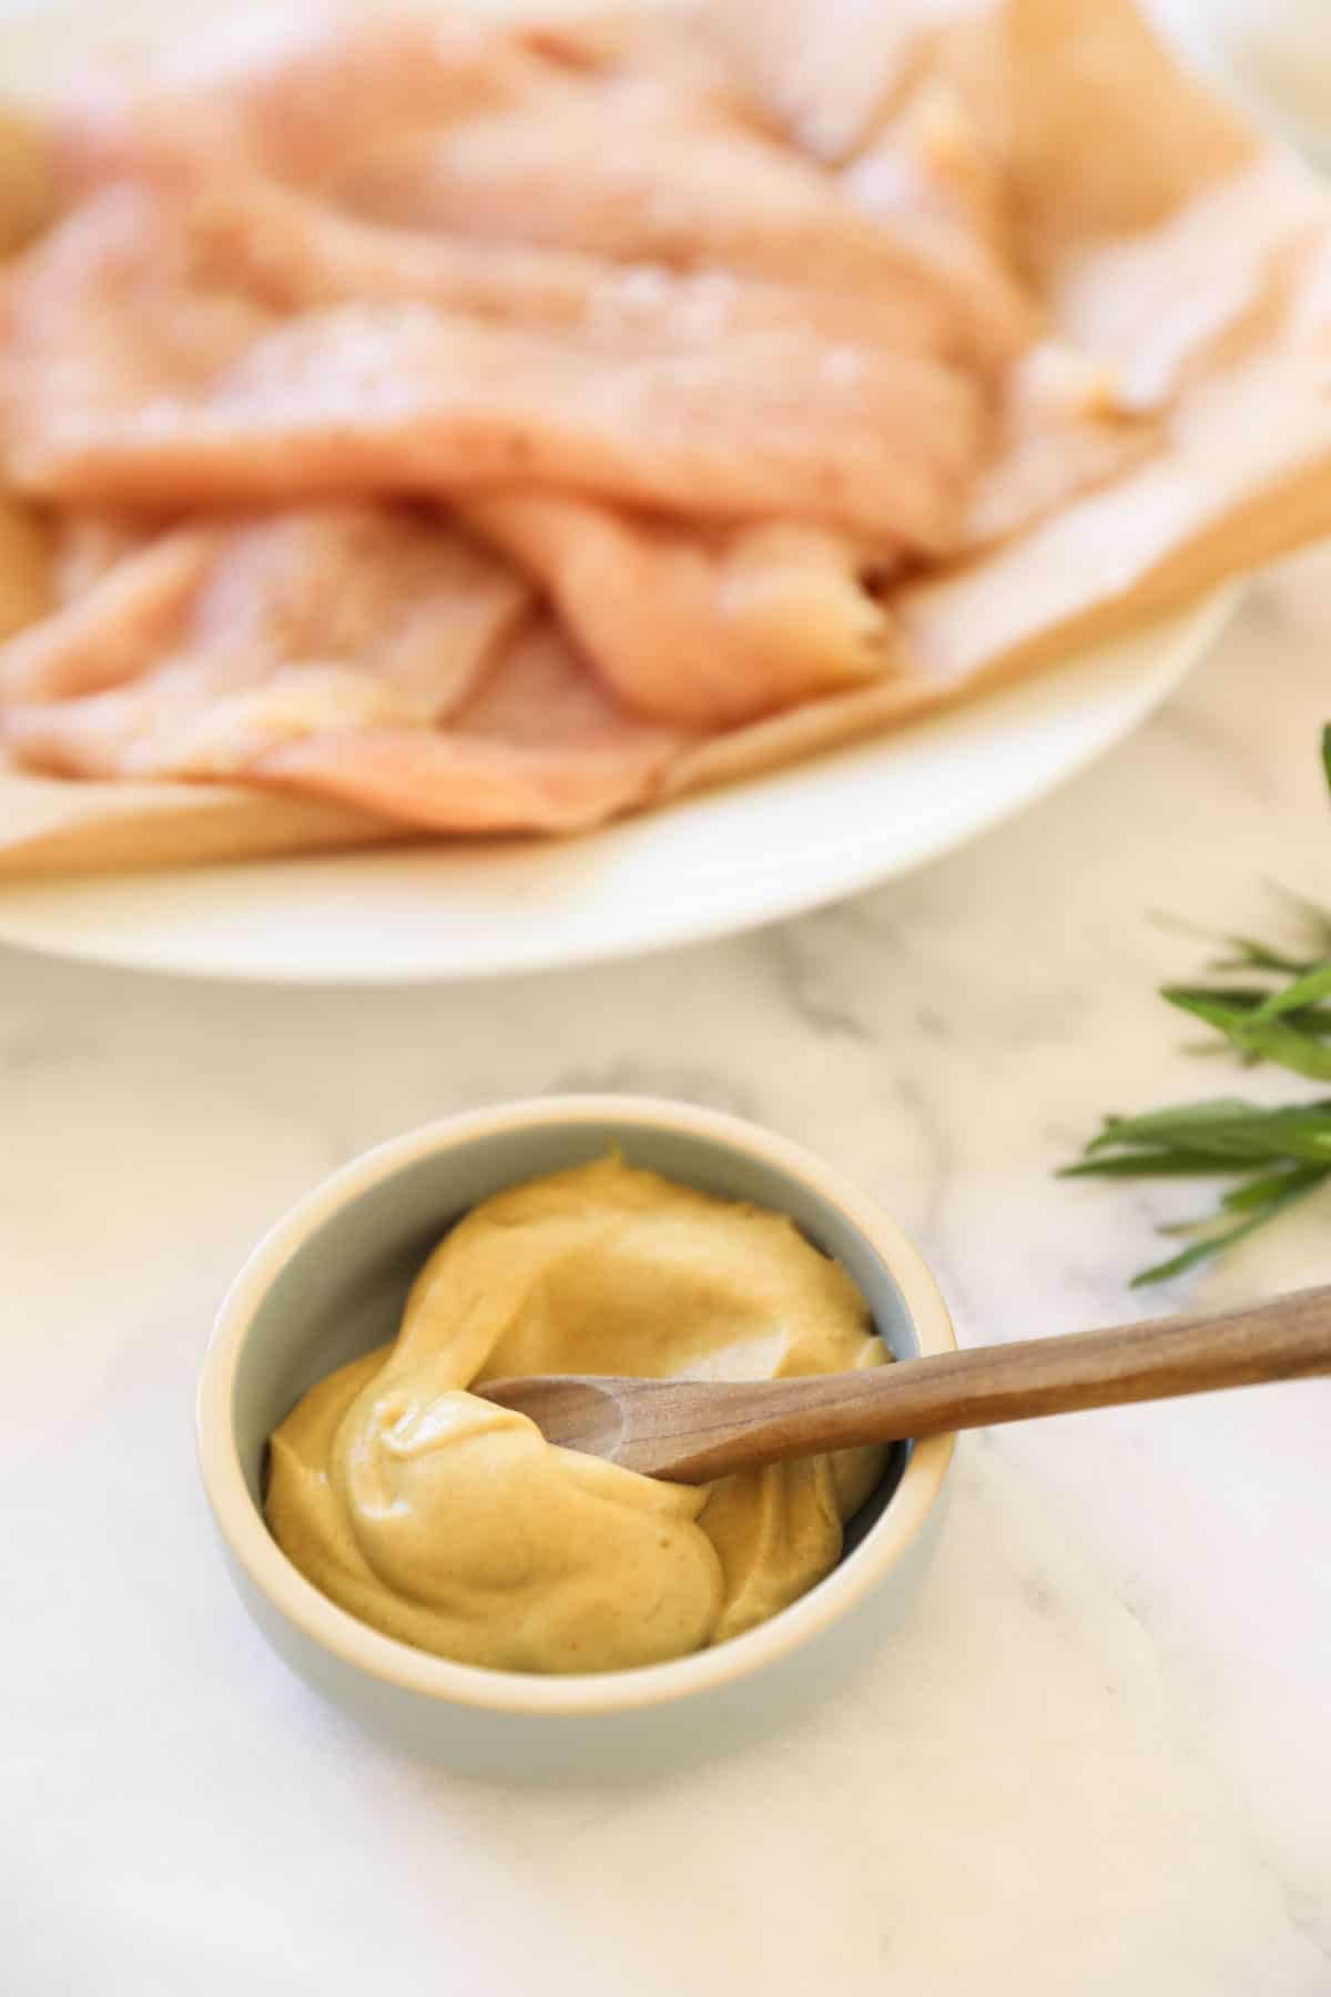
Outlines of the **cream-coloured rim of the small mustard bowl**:
[[561,1717],[635,1711],[732,1685],[800,1650],[870,1594],[902,1560],[940,1496],[954,1436],[916,1442],[900,1484],[862,1542],[832,1574],[788,1608],[714,1650],[619,1671],[547,1677],[437,1658],[433,1652],[383,1636],[305,1580],[271,1538],[259,1506],[249,1496],[233,1428],[237,1364],[275,1276],[329,1218],[421,1158],[459,1150],[487,1136],[593,1122],[674,1130],[712,1140],[812,1186],[840,1210],[886,1266],[902,1292],[920,1352],[956,1350],[956,1334],[938,1284],[896,1222],[858,1186],[800,1144],[722,1110],[637,1094],[535,1096],[421,1124],[351,1158],[273,1222],[227,1288],[200,1366],[196,1444],[216,1526],[249,1584],[319,1650],[401,1691],[481,1711]]

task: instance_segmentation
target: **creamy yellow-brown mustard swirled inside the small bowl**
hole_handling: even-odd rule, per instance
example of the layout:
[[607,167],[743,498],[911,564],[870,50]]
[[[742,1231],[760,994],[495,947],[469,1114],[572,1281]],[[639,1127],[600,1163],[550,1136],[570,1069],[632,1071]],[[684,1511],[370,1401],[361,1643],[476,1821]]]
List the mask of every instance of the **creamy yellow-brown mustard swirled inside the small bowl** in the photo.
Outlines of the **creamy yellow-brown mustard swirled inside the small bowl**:
[[353,1616],[465,1664],[613,1671],[764,1622],[836,1564],[880,1450],[686,1488],[551,1448],[467,1392],[531,1372],[776,1380],[886,1358],[846,1272],[792,1220],[621,1158],[477,1206],[393,1346],[271,1438],[267,1522]]

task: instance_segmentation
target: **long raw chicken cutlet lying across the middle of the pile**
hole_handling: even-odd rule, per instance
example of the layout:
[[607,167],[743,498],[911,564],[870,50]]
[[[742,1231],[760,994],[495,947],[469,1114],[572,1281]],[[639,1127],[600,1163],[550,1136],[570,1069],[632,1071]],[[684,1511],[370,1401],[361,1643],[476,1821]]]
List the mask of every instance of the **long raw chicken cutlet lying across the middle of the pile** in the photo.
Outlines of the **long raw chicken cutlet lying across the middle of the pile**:
[[[74,503],[287,503],[507,485],[798,513],[956,543],[976,379],[800,324],[643,351],[375,298],[281,318],[118,186],[30,254],[0,361],[10,475]],[[882,435],[898,447],[886,453]]]

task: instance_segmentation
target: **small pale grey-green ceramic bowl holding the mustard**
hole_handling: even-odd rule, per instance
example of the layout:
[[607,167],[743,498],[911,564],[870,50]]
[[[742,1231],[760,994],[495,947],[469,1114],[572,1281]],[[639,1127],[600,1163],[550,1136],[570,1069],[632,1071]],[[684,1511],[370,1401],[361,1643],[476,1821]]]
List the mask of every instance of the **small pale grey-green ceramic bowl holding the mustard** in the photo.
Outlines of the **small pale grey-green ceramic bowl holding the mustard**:
[[898,1358],[950,1352],[912,1244],[854,1186],[754,1124],[684,1102],[551,1096],[429,1124],[343,1166],[259,1242],[204,1358],[204,1488],[245,1608],[273,1650],[361,1723],[453,1765],[615,1777],[766,1729],[900,1616],[938,1524],[952,1438],[894,1452],[834,1572],[756,1630],[633,1671],[543,1677],[451,1664],[381,1636],[285,1558],[259,1504],[269,1432],[335,1366],[393,1338],[439,1236],[503,1186],[621,1148],[631,1164],[786,1212],[856,1280]]

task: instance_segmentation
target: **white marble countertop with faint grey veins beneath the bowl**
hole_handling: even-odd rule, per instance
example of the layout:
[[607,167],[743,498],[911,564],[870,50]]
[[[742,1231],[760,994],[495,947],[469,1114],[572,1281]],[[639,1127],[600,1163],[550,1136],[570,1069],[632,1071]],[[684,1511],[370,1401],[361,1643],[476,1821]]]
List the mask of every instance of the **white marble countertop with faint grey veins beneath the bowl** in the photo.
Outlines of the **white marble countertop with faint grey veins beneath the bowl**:
[[[1197,1188],[1050,1174],[1102,1110],[1217,1086],[1151,997],[1199,947],[1149,909],[1253,929],[1263,879],[1331,895],[1329,603],[1305,557],[1074,787],[742,941],[369,995],[0,955],[6,1993],[1331,1991],[1331,1388],[966,1438],[860,1695],[613,1795],[467,1783],[321,1707],[231,1594],[192,1444],[255,1234],[507,1094],[802,1138],[918,1236],[964,1340],[1131,1316]],[[1327,1210],[1161,1306],[1329,1278]]]

